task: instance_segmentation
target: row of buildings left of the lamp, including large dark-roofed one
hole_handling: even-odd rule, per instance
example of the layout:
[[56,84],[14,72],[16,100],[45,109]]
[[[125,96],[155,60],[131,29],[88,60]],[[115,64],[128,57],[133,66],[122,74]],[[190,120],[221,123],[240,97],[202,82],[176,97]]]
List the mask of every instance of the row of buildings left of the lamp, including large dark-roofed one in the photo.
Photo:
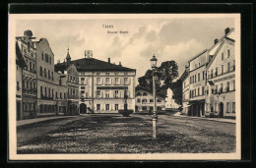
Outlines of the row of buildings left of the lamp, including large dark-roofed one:
[[69,49],[63,63],[54,65],[54,53],[45,38],[38,41],[32,30],[16,37],[17,120],[45,115],[135,110],[136,70],[93,58],[71,60]]

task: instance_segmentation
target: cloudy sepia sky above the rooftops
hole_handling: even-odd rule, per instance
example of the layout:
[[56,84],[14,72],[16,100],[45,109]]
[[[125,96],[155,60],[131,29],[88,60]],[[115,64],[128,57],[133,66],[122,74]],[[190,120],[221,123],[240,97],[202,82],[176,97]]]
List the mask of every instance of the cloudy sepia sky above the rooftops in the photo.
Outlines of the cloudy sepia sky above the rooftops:
[[[105,28],[109,25],[113,28]],[[85,57],[85,50],[93,50],[93,57],[137,70],[136,77],[151,69],[155,54],[158,66],[174,60],[179,77],[188,60],[224,36],[224,28],[234,28],[232,18],[153,18],[153,19],[43,19],[17,20],[16,35],[31,29],[34,40],[47,38],[54,53],[54,62],[63,62],[67,48],[72,60]],[[118,31],[118,33],[107,33]],[[120,33],[119,31],[128,31]]]

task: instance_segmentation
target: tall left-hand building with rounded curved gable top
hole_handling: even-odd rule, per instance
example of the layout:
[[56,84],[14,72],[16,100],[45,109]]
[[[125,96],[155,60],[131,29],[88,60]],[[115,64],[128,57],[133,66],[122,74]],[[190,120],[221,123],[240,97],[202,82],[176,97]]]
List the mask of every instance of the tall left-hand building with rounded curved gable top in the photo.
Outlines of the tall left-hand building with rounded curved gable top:
[[54,77],[54,54],[47,39],[40,38],[34,44],[37,56],[37,115],[55,115],[58,111],[54,94],[59,82]]

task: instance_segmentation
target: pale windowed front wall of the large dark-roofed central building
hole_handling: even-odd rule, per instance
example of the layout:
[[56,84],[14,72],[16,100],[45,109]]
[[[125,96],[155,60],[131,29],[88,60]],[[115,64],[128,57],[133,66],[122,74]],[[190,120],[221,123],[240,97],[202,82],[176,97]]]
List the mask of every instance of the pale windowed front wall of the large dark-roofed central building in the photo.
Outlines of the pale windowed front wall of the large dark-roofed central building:
[[[79,84],[79,97],[83,98],[80,104],[86,103],[95,112],[109,112],[105,110],[105,104],[111,109],[118,104],[118,109],[122,109],[125,90],[128,108],[135,110],[135,72],[80,72]],[[96,104],[100,104],[101,110],[96,110]]]

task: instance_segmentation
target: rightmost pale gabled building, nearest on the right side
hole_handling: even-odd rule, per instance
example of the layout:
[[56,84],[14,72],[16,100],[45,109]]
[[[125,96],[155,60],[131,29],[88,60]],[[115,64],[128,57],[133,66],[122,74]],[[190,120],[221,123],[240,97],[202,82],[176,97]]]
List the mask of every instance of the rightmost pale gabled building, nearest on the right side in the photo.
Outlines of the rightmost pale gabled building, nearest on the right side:
[[209,49],[206,115],[235,117],[234,28],[226,28],[224,37]]

